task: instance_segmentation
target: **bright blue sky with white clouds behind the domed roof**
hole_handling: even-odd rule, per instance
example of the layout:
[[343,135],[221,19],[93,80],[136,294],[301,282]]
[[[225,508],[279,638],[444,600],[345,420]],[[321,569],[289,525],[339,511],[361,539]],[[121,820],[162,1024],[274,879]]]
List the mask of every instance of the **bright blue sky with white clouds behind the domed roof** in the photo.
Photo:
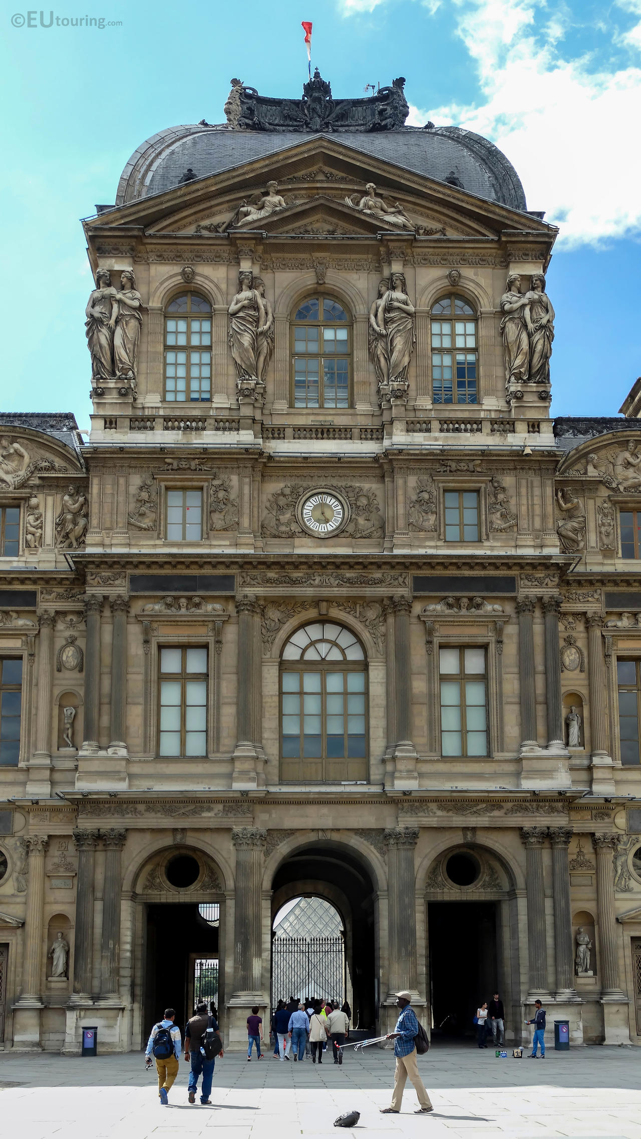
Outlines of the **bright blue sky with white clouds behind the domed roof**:
[[[48,28],[39,8],[26,26],[22,2],[0,14],[2,410],[72,410],[89,426],[79,219],[114,200],[155,131],[221,122],[233,75],[298,97],[311,19],[335,95],[403,74],[409,122],[477,130],[514,163],[530,208],[561,227],[552,411],[617,412],[641,372],[641,0],[64,0],[43,9]],[[63,24],[80,16],[107,26]]]

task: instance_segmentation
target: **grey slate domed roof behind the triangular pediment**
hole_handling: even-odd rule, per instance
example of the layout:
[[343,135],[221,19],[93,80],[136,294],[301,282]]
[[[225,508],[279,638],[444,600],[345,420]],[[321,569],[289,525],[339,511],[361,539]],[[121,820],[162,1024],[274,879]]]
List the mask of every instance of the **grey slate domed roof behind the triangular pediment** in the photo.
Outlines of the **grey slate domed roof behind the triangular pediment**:
[[331,136],[300,130],[235,130],[204,123],[173,126],[153,134],[133,151],[122,172],[115,204],[128,205],[164,194],[181,182],[286,151],[303,139],[327,137],[362,155],[456,186],[511,210],[527,211],[519,175],[493,142],[460,126],[431,123],[396,130],[348,129]]

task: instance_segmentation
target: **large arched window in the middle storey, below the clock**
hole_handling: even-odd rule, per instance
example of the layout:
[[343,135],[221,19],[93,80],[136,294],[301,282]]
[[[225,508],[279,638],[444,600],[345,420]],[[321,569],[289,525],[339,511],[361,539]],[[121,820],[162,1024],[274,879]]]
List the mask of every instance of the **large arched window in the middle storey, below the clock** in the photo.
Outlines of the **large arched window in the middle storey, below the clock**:
[[282,778],[367,777],[367,671],[360,642],[328,621],[303,625],[281,658]]

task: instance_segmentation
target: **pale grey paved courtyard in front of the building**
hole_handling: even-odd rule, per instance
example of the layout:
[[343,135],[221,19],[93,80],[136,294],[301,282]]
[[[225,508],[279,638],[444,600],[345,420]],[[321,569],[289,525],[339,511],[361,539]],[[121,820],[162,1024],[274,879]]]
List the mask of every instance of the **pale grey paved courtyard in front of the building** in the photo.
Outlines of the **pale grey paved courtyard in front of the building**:
[[493,1050],[440,1044],[419,1060],[435,1112],[415,1116],[407,1084],[399,1115],[389,1105],[393,1056],[347,1052],[342,1067],[262,1062],[238,1054],[217,1063],[212,1106],[187,1103],[187,1071],[159,1105],[140,1052],[97,1058],[0,1054],[0,1124],[21,1139],[291,1139],[336,1136],[333,1121],[356,1108],[356,1134],[381,1139],[571,1136],[641,1139],[641,1056],[631,1048],[549,1050],[542,1060],[496,1059]]

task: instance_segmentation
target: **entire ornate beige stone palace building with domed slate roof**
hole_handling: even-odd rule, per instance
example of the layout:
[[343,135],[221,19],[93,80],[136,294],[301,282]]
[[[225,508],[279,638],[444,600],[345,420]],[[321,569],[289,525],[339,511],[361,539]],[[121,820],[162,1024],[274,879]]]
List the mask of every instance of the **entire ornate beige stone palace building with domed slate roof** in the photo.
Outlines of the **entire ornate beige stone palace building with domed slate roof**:
[[550,418],[557,230],[407,110],[234,81],[144,142],[89,442],[0,419],[7,1049],[138,1049],[205,976],[242,1048],[299,898],[360,1027],[498,989],[641,1043],[638,394]]

